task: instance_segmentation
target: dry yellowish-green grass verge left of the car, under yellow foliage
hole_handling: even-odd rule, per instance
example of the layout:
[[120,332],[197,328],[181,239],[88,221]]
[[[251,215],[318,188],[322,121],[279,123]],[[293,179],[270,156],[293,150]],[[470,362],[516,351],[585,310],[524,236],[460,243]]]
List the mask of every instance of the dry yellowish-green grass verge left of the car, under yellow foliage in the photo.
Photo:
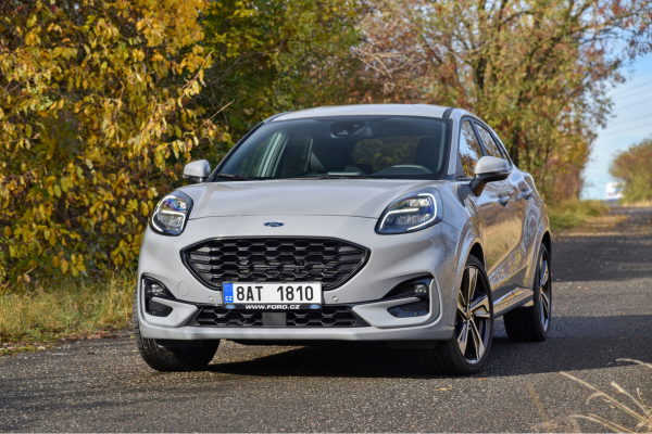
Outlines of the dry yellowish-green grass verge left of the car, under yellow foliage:
[[131,272],[104,282],[68,280],[50,289],[0,293],[0,355],[125,329],[135,288]]

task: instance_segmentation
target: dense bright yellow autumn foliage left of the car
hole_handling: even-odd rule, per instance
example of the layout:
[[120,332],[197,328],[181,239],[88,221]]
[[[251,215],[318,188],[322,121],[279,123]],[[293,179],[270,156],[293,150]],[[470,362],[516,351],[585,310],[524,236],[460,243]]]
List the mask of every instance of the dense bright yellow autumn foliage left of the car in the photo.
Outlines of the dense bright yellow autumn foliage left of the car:
[[0,5],[0,284],[135,263],[192,149],[230,141],[196,104],[208,5]]

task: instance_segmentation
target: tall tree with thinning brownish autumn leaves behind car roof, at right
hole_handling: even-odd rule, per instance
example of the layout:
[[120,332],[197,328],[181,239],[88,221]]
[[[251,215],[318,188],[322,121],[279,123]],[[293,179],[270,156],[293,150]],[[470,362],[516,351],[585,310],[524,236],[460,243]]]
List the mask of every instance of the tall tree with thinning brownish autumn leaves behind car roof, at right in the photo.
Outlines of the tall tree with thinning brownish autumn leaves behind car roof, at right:
[[549,199],[577,196],[605,91],[651,24],[649,0],[384,1],[361,23],[353,99],[468,108]]

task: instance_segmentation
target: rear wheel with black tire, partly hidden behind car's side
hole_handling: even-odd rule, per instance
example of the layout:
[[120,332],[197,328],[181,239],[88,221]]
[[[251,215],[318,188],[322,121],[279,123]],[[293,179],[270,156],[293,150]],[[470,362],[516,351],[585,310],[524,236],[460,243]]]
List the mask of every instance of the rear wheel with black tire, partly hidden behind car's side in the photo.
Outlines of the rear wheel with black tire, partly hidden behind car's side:
[[[542,273],[543,272],[543,273]],[[546,341],[552,319],[552,282],[550,279],[550,255],[541,243],[535,273],[534,306],[518,307],[505,314],[505,331],[515,342]]]

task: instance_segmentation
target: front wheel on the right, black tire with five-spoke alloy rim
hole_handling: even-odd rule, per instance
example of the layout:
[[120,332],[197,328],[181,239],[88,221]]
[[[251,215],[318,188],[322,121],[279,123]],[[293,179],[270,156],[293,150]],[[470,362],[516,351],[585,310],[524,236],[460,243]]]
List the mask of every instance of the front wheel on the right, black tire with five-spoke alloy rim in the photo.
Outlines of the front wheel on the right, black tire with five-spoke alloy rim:
[[[471,291],[471,301],[467,301],[464,299],[463,290],[472,288],[474,275],[476,284],[474,290]],[[461,288],[457,291],[457,309],[455,311],[455,333],[453,337],[440,342],[432,349],[419,350],[419,357],[425,368],[432,373],[472,375],[479,372],[487,363],[493,334],[491,286],[482,263],[473,255],[469,255],[466,260]],[[471,324],[472,322],[473,324]],[[468,341],[469,336],[472,341]],[[460,341],[462,339],[463,341]],[[468,345],[469,343],[473,345]],[[481,343],[481,345],[478,343]],[[474,352],[475,358],[472,357]],[[478,352],[480,353],[479,357],[477,357]]]

